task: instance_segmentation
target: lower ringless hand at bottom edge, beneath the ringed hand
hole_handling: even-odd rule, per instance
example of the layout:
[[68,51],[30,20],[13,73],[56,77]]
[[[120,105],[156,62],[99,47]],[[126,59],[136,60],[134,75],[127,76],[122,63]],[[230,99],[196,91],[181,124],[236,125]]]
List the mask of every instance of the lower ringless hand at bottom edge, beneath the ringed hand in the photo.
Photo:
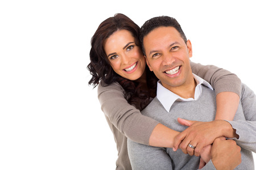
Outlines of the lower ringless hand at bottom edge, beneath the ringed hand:
[[212,145],[212,163],[218,170],[229,170],[241,164],[241,147],[232,139],[220,137]]

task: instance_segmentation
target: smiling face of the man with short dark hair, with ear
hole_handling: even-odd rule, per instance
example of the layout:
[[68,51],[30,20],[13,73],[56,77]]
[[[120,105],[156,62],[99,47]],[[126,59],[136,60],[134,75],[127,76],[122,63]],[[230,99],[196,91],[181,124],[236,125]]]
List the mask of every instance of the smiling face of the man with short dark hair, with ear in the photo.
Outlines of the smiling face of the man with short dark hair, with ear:
[[186,44],[174,27],[154,29],[144,37],[143,44],[147,65],[164,87],[171,90],[191,81],[191,42]]

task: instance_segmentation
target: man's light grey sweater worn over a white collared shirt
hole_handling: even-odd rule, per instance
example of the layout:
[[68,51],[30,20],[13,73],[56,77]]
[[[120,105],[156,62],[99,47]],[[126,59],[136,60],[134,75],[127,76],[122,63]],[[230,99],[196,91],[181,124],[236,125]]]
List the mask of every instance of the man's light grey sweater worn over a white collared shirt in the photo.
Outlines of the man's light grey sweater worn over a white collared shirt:
[[[246,86],[242,86],[241,103],[237,109],[234,121],[230,121],[240,139],[235,139],[240,145],[242,163],[236,169],[254,169],[253,155],[256,151],[256,97]],[[243,108],[250,109],[243,112]],[[168,128],[183,131],[186,127],[177,122],[177,117],[187,120],[212,121],[216,113],[216,97],[214,91],[203,86],[203,92],[198,100],[175,101],[170,112],[155,97],[142,111],[144,116],[154,118]],[[160,148],[142,145],[128,139],[129,158],[134,170],[136,169],[198,169],[200,157],[189,156],[181,150],[176,152],[171,148]],[[247,150],[246,150],[247,149]],[[250,151],[249,151],[250,150]],[[203,169],[215,169],[209,162]]]

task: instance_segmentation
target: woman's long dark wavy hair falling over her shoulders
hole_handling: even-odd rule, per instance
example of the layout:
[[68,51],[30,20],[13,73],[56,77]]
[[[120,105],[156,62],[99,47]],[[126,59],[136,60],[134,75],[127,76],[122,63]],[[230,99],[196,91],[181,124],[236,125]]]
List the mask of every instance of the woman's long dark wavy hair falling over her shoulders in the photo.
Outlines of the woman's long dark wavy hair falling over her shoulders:
[[90,63],[87,66],[92,75],[89,84],[96,87],[100,81],[104,81],[108,85],[118,82],[126,91],[126,100],[135,105],[137,109],[142,110],[149,103],[150,97],[155,97],[157,78],[146,66],[147,86],[150,90],[143,91],[141,84],[138,82],[125,79],[114,72],[104,50],[104,41],[118,29],[130,31],[135,38],[135,44],[141,48],[139,43],[140,28],[133,20],[123,14],[115,14],[113,17],[104,20],[91,40]]

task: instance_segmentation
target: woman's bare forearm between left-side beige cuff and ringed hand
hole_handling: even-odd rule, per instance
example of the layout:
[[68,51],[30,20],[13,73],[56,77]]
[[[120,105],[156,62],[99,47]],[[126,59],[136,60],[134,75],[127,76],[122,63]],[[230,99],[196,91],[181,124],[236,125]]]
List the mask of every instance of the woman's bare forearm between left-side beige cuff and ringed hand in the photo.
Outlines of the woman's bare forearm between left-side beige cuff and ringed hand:
[[174,144],[174,137],[177,134],[179,134],[179,131],[167,128],[162,124],[158,124],[150,135],[149,144],[150,146],[172,148]]

